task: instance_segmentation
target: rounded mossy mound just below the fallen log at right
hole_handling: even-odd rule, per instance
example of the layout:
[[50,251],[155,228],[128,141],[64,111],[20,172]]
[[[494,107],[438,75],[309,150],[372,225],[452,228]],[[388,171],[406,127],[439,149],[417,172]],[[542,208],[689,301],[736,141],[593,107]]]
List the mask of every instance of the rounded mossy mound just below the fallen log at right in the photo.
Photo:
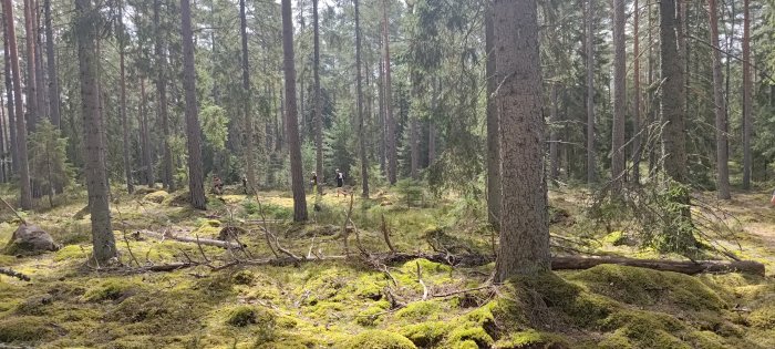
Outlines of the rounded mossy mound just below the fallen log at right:
[[698,278],[617,265],[599,265],[569,277],[592,291],[638,305],[666,305],[681,309],[722,309],[725,301]]

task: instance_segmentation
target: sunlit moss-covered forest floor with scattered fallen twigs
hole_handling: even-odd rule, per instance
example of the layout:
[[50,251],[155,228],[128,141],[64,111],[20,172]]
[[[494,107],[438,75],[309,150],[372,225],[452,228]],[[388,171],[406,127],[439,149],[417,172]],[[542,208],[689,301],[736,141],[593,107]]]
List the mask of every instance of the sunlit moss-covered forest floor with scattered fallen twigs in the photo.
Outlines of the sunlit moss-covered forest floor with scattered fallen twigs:
[[[85,194],[61,196],[59,206],[25,215],[62,248],[0,254],[0,267],[31,278],[0,276],[0,348],[775,348],[775,209],[765,191],[735,193],[728,203],[711,193],[694,196],[712,203],[713,219],[725,227],[709,243],[765,264],[766,277],[601,265],[498,286],[488,284],[493,263],[373,264],[358,257],[354,230],[348,239],[353,257],[337,259],[344,255],[350,199],[333,193],[320,198],[320,212],[310,211],[311,223],[298,225],[289,223],[292,199],[280,192],[259,193],[259,208],[254,196],[227,188],[199,212],[185,207],[185,193],[121,191],[113,188],[112,211],[124,267],[86,264],[90,220],[76,214]],[[11,199],[13,192],[0,194]],[[308,196],[310,206],[314,199]],[[555,254],[685,259],[636,247],[626,227],[609,232],[596,224],[586,216],[588,201],[579,189],[550,193]],[[355,198],[361,248],[389,252],[384,216],[399,252],[492,255],[479,199],[411,204],[394,192]],[[279,245],[310,260],[267,264],[275,257],[261,212]],[[4,243],[19,222],[6,211],[1,218]],[[134,234],[215,239],[225,227],[244,229],[245,250]],[[320,258],[326,260],[314,260]],[[147,271],[192,261],[199,265]]]

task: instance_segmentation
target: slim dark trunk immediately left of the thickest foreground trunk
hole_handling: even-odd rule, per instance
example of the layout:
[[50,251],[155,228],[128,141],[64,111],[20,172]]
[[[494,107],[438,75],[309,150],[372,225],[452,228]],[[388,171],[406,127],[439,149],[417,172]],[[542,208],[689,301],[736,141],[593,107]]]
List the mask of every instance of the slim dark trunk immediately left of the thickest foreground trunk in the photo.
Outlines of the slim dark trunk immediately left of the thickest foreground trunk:
[[485,50],[487,64],[487,220],[494,227],[500,225],[500,135],[498,133],[498,110],[495,105],[495,28],[493,3],[488,1],[485,12]]

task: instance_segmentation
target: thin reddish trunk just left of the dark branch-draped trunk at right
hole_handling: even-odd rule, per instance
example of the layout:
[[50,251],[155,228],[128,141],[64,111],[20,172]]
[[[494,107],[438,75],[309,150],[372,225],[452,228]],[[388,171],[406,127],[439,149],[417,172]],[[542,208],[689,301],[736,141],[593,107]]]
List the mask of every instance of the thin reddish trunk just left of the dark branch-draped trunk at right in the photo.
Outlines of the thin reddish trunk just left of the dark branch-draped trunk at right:
[[[640,121],[640,7],[638,0],[634,3],[634,18],[632,20],[632,184],[640,184],[640,157],[641,157],[641,121]],[[651,29],[649,29],[651,30]]]

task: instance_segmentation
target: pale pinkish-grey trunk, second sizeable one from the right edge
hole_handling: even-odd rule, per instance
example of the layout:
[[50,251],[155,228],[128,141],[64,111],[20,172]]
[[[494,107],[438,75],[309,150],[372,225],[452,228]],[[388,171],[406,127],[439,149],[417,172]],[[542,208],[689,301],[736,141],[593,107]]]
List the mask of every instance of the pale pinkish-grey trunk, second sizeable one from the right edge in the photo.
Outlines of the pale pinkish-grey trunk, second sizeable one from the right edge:
[[[711,44],[719,45],[719,9],[716,0],[707,0],[711,19]],[[726,140],[726,100],[724,99],[724,76],[722,76],[721,52],[711,50],[713,58],[713,100],[715,102],[716,127],[716,191],[719,198],[730,199],[730,160]]]

